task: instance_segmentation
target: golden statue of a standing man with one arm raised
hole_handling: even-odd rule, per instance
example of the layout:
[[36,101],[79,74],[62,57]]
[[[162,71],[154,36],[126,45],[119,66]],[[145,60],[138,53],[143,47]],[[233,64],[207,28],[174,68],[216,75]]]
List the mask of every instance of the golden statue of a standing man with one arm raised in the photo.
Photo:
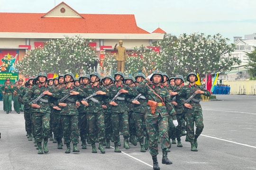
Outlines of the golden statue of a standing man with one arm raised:
[[124,72],[124,64],[127,61],[126,49],[123,47],[123,41],[119,40],[119,46],[117,43],[114,47],[114,51],[117,51],[116,60],[117,60],[117,71]]

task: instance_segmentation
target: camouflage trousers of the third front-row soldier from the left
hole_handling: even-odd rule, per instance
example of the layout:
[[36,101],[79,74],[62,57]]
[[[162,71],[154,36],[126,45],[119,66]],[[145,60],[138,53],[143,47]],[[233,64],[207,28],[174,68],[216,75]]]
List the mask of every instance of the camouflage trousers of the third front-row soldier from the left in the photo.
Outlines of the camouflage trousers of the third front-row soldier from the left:
[[105,139],[105,124],[104,124],[104,113],[87,113],[88,123],[88,144],[96,142],[97,138],[99,141]]

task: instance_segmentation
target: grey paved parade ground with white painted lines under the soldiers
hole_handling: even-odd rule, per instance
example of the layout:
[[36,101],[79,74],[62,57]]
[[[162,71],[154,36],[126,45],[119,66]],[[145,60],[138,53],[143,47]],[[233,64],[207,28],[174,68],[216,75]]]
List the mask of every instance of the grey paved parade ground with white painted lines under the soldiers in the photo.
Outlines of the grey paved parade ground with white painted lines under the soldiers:
[[[198,152],[182,137],[183,147],[173,144],[168,158],[172,165],[161,163],[161,170],[256,170],[256,96],[217,95],[216,101],[201,102],[204,129],[198,138]],[[66,154],[57,144],[48,142],[49,153],[37,154],[33,141],[27,141],[24,115],[6,114],[0,102],[0,170],[152,170],[148,150],[130,144],[122,153],[114,153],[114,144],[106,153],[91,153],[88,144],[80,153]],[[98,144],[96,144],[98,148]],[[72,145],[71,145],[72,150]]]

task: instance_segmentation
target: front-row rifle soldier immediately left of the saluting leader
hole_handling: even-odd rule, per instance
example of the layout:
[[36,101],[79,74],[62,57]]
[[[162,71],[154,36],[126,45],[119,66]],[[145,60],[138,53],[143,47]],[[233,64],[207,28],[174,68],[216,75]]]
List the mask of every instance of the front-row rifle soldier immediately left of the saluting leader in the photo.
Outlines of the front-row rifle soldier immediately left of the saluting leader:
[[[137,85],[146,79],[146,76],[143,73],[137,73],[135,75],[136,83],[134,88],[137,91]],[[146,106],[146,97],[143,96],[141,93],[137,92],[137,96],[132,99],[132,103],[134,103],[134,115],[135,115],[135,127],[136,127],[136,134],[137,139],[140,144],[140,152],[146,152],[148,149],[148,133],[146,131],[146,125],[145,125],[145,116],[147,111]],[[145,136],[145,144],[144,144],[144,136]]]

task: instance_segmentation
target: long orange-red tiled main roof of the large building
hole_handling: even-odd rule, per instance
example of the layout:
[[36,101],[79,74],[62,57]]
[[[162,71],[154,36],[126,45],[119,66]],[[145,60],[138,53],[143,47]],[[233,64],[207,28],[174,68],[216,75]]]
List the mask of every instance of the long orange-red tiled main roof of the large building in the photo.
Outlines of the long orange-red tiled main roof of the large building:
[[42,17],[44,13],[0,13],[0,32],[150,34],[139,28],[134,15],[80,14]]

